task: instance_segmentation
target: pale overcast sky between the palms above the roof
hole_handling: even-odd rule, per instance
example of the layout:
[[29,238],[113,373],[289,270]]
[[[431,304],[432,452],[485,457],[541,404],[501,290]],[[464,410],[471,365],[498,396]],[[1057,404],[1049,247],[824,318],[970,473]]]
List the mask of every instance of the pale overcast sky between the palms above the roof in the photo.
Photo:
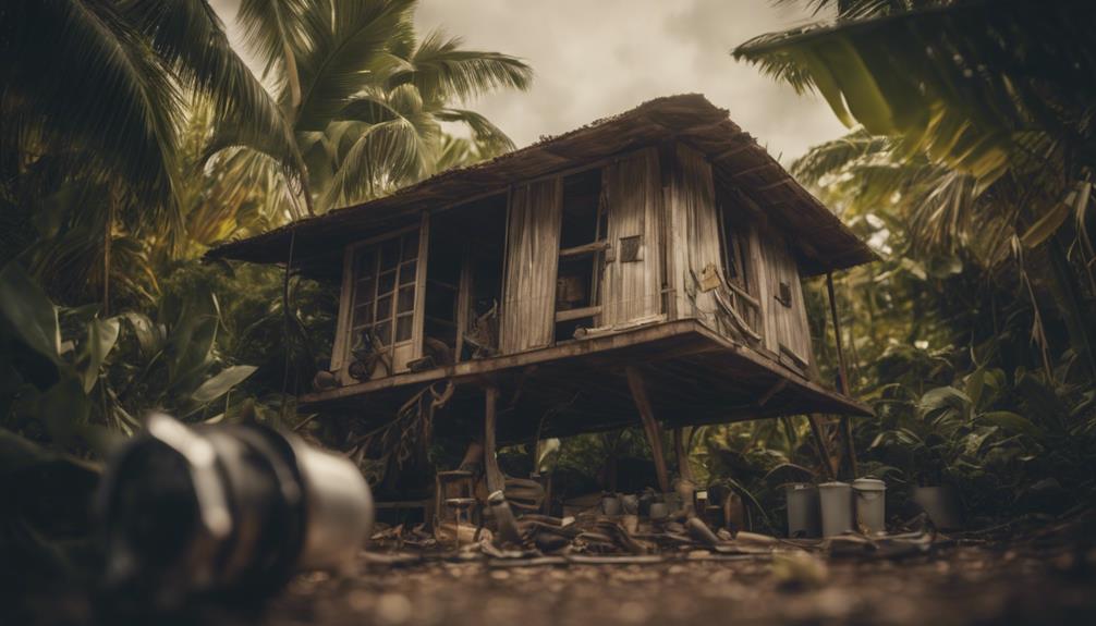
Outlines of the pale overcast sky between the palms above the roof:
[[[238,0],[212,3],[235,39]],[[728,51],[809,18],[770,0],[422,0],[416,20],[422,34],[443,27],[466,47],[533,66],[529,92],[470,106],[520,147],[652,97],[697,92],[787,163],[844,127],[820,98],[796,95]]]

